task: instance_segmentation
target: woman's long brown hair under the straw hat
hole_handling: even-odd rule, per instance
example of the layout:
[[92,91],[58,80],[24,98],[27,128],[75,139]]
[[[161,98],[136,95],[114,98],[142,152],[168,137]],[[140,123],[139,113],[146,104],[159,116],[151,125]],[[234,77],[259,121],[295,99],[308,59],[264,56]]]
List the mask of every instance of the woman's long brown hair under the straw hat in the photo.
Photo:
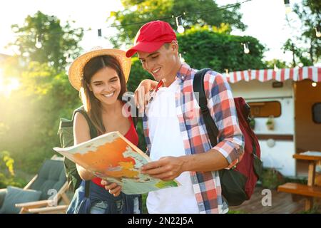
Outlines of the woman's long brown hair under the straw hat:
[[101,101],[93,95],[91,90],[89,90],[89,85],[93,75],[105,67],[113,68],[121,81],[121,92],[117,98],[118,100],[121,100],[123,93],[126,92],[126,80],[121,65],[113,56],[97,56],[88,61],[83,68],[83,78],[81,80],[81,89],[79,90],[83,106],[88,113],[91,122],[95,126],[98,135],[106,133],[102,119],[102,105]]

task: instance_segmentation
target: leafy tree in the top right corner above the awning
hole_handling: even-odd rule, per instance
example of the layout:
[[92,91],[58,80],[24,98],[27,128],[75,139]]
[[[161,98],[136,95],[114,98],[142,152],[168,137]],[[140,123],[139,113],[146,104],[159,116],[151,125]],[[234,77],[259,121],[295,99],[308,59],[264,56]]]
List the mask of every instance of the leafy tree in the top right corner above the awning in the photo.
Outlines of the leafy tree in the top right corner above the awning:
[[[302,4],[295,4],[293,11],[302,22],[300,34],[295,38],[296,41],[288,39],[284,46],[284,51],[292,52],[292,66],[296,66],[300,61],[304,66],[313,65],[317,63],[321,56],[321,41],[320,37],[316,36],[316,30],[321,29],[321,2],[318,0],[302,0]],[[291,26],[288,20],[289,26]],[[292,27],[295,30],[294,27]],[[297,43],[305,43],[305,46],[298,46]]]

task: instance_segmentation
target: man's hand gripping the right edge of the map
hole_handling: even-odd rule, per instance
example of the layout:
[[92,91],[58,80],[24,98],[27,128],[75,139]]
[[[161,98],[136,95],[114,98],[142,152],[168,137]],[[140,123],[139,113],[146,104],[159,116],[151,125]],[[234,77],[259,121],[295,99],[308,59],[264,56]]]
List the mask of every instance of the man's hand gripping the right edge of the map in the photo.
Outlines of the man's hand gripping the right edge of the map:
[[183,157],[161,157],[158,161],[143,165],[141,172],[161,180],[174,180],[183,170]]

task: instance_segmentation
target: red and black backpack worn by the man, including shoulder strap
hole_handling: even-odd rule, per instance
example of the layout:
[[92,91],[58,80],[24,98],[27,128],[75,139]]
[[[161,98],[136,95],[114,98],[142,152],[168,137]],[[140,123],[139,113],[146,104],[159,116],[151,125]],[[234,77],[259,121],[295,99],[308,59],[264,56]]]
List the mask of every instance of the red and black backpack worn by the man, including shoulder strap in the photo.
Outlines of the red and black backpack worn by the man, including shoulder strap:
[[[206,130],[212,147],[218,144],[218,128],[208,110],[208,100],[204,90],[204,76],[209,68],[195,73],[193,91],[199,98],[199,106]],[[198,93],[198,96],[197,96]],[[243,98],[234,98],[235,108],[238,113],[240,130],[245,139],[244,154],[242,160],[230,170],[219,170],[222,195],[230,206],[242,204],[250,199],[255,189],[255,184],[263,170],[263,162],[260,160],[260,145],[258,138],[250,128],[250,105]]]

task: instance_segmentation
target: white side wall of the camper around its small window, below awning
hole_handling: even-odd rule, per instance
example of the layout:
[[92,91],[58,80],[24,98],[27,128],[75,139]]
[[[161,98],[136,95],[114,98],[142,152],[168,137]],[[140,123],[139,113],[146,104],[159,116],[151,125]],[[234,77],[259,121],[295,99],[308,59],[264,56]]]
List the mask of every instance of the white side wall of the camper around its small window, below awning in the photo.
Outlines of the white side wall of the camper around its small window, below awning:
[[[294,135],[294,99],[292,81],[285,81],[283,88],[272,88],[272,82],[240,81],[231,84],[233,95],[243,97],[247,103],[278,101],[281,105],[281,115],[275,118],[274,130],[267,130],[267,118],[255,118],[255,134],[257,135]],[[268,140],[268,139],[267,139]],[[295,153],[293,140],[274,140],[274,145],[267,145],[267,140],[260,140],[261,159],[264,167],[273,167],[282,175],[295,176]],[[272,138],[270,139],[270,141]]]

